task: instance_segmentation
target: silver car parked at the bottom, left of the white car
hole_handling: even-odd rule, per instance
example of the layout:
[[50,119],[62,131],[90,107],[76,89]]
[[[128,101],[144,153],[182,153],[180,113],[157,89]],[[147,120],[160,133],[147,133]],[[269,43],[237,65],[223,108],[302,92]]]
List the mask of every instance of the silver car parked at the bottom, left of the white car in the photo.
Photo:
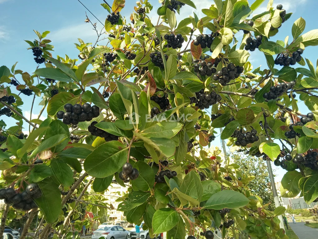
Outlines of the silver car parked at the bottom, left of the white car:
[[108,225],[104,228],[99,228],[92,233],[92,239],[104,237],[105,239],[126,239],[128,231],[120,226]]

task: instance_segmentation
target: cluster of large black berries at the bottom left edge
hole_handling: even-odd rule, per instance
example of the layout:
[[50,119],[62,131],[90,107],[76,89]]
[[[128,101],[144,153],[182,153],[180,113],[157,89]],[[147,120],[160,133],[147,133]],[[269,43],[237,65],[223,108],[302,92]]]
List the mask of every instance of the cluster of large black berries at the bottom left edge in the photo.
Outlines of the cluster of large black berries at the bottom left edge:
[[38,208],[33,199],[40,198],[41,196],[41,190],[34,183],[29,184],[22,193],[16,193],[14,188],[0,189],[0,199],[4,199],[5,204],[13,204],[15,209],[23,211]]

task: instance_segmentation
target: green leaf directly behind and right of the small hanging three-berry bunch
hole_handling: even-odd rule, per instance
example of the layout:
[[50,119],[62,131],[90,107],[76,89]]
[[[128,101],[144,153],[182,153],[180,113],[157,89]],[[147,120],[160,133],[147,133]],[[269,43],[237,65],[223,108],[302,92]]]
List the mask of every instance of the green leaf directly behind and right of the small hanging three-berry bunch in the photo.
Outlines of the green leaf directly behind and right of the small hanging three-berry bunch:
[[142,161],[138,161],[134,165],[139,171],[139,177],[135,180],[131,180],[130,183],[134,190],[149,191],[154,187],[155,174],[150,166]]

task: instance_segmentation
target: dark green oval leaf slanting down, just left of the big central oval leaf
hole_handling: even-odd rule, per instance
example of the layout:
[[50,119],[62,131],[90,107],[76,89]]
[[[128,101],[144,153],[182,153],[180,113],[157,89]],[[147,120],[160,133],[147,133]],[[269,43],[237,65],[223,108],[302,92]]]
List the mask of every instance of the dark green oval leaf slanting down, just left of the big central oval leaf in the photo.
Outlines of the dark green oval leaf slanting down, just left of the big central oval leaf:
[[53,158],[50,167],[56,179],[65,187],[69,187],[74,182],[73,170],[62,160]]

